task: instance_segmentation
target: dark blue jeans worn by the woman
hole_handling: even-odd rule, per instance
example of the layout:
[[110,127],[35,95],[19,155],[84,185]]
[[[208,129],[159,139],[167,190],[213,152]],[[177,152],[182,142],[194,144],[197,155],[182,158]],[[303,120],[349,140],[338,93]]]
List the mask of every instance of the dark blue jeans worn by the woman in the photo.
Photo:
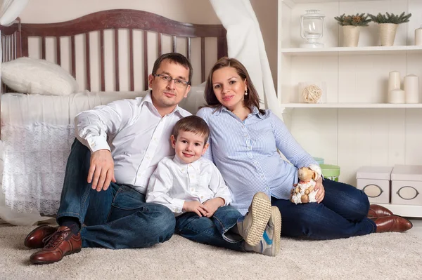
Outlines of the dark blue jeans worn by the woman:
[[271,197],[281,213],[282,236],[307,236],[310,239],[338,239],[370,234],[375,222],[366,218],[368,196],[360,189],[325,179],[325,196],[320,203],[293,204]]

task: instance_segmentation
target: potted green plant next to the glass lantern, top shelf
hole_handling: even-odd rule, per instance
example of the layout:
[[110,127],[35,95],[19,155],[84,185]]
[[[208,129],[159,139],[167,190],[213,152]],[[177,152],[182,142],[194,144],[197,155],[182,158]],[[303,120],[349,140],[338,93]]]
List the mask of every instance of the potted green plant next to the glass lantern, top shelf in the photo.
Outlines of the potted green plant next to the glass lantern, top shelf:
[[340,15],[335,17],[337,23],[343,28],[343,46],[357,46],[361,27],[368,26],[371,18],[364,13],[356,15]]

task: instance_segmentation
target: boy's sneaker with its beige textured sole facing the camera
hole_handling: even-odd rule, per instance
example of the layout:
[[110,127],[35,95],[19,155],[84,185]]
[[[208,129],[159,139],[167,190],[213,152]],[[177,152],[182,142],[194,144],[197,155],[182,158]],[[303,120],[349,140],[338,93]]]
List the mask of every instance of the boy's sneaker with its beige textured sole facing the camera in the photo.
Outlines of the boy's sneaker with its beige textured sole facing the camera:
[[239,234],[250,246],[260,243],[271,215],[271,201],[267,194],[257,192],[242,222],[238,222]]

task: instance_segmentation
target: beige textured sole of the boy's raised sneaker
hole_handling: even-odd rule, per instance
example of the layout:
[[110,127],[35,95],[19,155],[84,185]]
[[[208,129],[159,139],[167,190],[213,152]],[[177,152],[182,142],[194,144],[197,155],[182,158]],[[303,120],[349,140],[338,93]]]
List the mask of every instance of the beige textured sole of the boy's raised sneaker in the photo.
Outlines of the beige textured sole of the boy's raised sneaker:
[[260,243],[271,216],[271,201],[269,201],[267,194],[258,192],[253,196],[250,208],[252,225],[245,236],[245,242],[250,246],[255,246]]

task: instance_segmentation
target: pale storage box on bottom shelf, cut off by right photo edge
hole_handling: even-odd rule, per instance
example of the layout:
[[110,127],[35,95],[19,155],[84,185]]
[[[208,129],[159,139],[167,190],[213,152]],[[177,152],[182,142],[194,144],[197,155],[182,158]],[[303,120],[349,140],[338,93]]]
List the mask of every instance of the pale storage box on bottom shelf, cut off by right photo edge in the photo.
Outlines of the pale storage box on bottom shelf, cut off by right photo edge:
[[422,166],[394,166],[391,203],[422,205]]

